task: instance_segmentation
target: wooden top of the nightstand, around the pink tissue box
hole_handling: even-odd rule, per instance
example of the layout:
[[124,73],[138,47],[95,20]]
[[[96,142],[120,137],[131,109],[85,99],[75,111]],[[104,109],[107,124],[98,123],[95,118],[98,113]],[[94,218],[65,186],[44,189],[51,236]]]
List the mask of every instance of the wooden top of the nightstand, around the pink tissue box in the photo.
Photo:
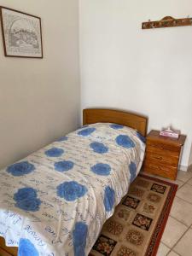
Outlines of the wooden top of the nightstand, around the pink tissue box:
[[160,131],[152,130],[148,133],[147,140],[158,141],[160,143],[172,144],[175,146],[183,146],[186,136],[179,135],[178,138],[160,136]]

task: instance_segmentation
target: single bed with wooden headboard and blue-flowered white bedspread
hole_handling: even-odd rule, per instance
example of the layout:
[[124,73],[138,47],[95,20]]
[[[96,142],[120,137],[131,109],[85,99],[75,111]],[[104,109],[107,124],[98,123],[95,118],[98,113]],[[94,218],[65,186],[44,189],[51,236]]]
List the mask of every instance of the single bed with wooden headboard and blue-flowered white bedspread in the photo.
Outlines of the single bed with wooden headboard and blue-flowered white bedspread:
[[135,113],[84,109],[82,128],[3,169],[0,254],[88,255],[141,169],[147,124]]

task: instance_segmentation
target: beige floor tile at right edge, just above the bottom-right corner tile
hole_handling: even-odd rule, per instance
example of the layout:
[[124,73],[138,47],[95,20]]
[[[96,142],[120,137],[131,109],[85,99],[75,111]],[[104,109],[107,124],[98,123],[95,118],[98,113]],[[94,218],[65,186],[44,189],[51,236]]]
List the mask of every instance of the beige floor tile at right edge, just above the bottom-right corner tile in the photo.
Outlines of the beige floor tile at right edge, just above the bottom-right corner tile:
[[190,226],[192,224],[192,205],[176,196],[170,215],[183,224]]

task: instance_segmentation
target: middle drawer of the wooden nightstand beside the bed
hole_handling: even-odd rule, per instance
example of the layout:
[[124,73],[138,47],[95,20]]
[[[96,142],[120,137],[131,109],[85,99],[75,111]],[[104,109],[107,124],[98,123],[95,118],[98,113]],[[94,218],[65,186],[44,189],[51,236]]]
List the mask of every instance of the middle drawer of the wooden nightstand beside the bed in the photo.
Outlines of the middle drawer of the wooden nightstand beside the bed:
[[[172,153],[172,152],[171,152]],[[153,161],[157,165],[166,165],[177,167],[178,165],[178,157],[172,156],[170,154],[157,154],[156,152],[147,151],[146,160]]]

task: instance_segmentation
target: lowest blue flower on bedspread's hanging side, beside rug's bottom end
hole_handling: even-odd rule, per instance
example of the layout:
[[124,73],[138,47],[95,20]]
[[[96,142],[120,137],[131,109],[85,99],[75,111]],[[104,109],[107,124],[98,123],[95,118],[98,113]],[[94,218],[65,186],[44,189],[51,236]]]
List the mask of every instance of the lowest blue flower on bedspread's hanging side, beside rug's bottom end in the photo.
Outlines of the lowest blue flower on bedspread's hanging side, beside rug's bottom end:
[[88,227],[83,222],[78,222],[75,224],[75,229],[73,230],[73,247],[74,256],[85,256],[84,249],[86,246]]

